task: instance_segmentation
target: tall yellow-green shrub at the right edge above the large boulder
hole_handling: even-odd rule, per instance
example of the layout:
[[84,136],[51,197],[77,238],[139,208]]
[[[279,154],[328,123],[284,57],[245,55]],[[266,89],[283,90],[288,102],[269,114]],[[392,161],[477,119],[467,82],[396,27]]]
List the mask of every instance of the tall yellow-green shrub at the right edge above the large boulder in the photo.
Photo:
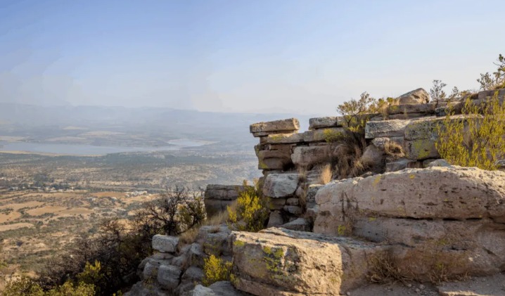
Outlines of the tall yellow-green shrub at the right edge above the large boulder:
[[452,165],[497,169],[505,157],[505,104],[497,94],[481,105],[467,99],[463,114],[474,117],[457,119],[449,112],[437,125],[438,152]]

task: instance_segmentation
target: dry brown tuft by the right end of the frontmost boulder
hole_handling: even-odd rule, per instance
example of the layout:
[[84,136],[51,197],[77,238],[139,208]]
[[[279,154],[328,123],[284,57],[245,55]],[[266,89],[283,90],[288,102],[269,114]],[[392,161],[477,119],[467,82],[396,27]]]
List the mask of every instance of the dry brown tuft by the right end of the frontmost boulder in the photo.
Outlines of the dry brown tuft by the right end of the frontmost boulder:
[[369,264],[371,269],[366,277],[371,283],[407,283],[413,279],[400,271],[388,253],[372,257]]

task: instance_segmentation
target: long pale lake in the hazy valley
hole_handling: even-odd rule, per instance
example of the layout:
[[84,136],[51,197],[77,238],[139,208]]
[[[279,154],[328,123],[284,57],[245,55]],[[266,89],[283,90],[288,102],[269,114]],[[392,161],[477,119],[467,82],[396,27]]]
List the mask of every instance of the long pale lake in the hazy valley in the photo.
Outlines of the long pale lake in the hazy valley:
[[51,153],[63,155],[106,155],[124,152],[155,152],[179,150],[187,147],[199,147],[212,142],[191,139],[177,139],[168,141],[170,146],[133,147],[133,146],[93,146],[89,144],[63,143],[31,143],[0,141],[0,151],[23,151],[29,153]]

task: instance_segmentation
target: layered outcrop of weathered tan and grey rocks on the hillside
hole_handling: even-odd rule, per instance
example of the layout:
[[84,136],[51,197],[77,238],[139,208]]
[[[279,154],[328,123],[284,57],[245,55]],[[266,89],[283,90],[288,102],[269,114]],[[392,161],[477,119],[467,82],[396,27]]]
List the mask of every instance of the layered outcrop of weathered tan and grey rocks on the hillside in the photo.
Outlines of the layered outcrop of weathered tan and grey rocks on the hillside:
[[[503,101],[505,90],[498,92]],[[472,99],[485,103],[492,94]],[[373,160],[374,172],[328,184],[320,184],[320,168],[335,157],[328,135],[343,131],[343,118],[312,118],[302,133],[294,118],[251,124],[260,141],[255,151],[271,210],[268,228],[203,226],[191,245],[159,236],[153,239],[158,252],[139,266],[143,282],[129,295],[365,295],[359,289],[379,280],[384,264],[399,281],[421,283],[505,271],[505,172],[452,166],[435,149],[437,122],[449,105],[461,112],[461,101],[429,103],[422,89],[398,101],[366,123],[362,157]],[[388,157],[388,141],[402,146],[404,156]],[[240,190],[207,186],[207,211],[225,210]],[[233,262],[233,284],[196,285],[210,255]],[[447,287],[435,290],[505,295],[504,285],[487,294]]]

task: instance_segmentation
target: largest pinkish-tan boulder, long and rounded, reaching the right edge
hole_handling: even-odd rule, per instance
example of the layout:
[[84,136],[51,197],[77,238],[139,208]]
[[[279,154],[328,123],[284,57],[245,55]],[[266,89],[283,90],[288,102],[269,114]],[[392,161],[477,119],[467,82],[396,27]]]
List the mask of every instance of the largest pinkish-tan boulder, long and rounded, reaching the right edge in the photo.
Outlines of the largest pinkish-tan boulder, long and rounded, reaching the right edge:
[[504,172],[466,167],[404,169],[333,182],[317,192],[319,214],[314,232],[338,234],[338,226],[345,226],[349,217],[357,213],[369,217],[489,217],[505,221],[503,184]]

